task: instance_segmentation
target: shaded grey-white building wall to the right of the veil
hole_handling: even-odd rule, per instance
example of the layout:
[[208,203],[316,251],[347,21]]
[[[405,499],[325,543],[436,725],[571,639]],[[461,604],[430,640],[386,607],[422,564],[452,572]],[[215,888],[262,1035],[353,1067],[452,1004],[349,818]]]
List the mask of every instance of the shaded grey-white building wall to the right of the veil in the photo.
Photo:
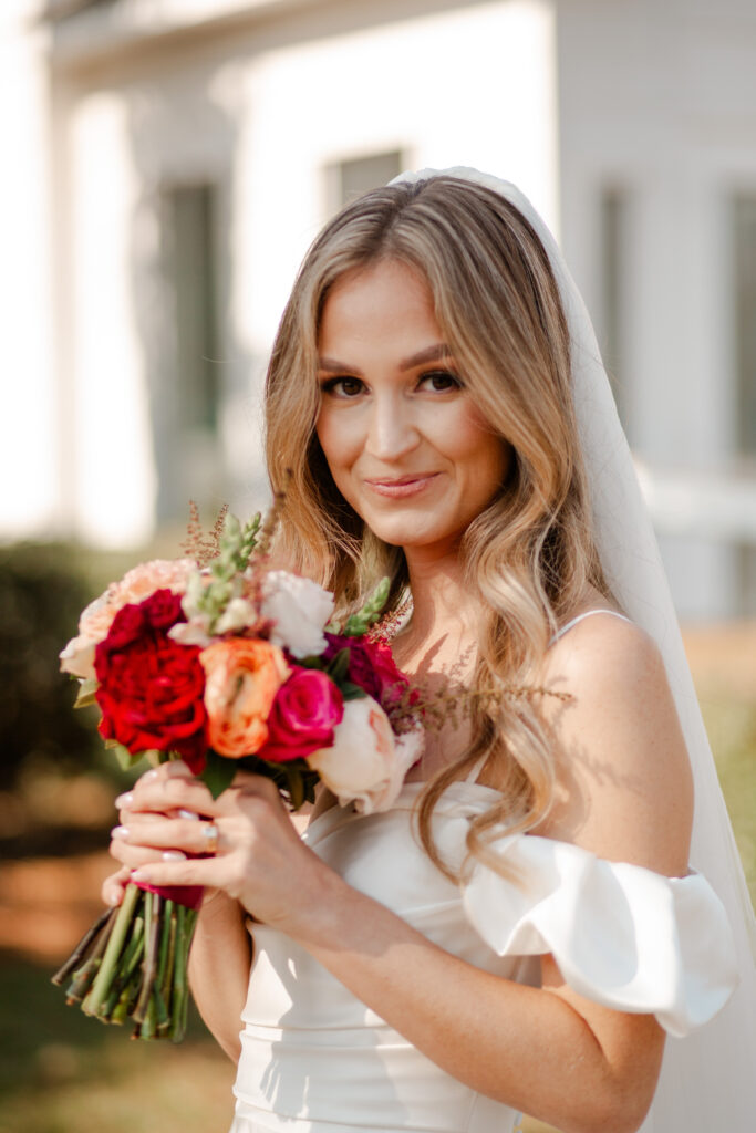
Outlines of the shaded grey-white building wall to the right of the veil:
[[[756,187],[756,7],[745,0],[557,0],[557,7],[566,253],[601,327],[600,195],[606,186],[622,188],[628,431],[648,478],[679,611],[728,616],[738,605],[733,540],[756,543],[754,506],[736,514],[729,505],[744,489],[740,480],[732,485],[728,212],[738,185]],[[746,494],[756,494],[753,480]]]

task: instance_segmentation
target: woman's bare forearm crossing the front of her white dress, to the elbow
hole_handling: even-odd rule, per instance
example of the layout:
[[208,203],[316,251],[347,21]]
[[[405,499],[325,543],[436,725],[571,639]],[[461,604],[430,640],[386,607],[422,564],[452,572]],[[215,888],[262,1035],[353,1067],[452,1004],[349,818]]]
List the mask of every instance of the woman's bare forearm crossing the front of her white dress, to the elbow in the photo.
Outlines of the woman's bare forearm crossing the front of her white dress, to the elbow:
[[564,1133],[638,1127],[661,1058],[653,1017],[596,1007],[596,1019],[618,1024],[602,1026],[602,1047],[568,999],[483,972],[340,878],[331,883],[297,939],[428,1058]]

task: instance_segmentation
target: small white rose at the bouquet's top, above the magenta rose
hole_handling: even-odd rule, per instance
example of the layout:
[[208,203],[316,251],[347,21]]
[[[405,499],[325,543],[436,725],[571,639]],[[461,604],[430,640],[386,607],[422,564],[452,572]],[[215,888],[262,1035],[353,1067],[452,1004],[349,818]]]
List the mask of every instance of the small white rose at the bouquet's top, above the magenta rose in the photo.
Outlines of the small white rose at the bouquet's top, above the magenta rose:
[[323,628],[333,613],[333,595],[309,578],[273,570],[263,583],[263,617],[273,622],[271,641],[294,657],[320,656]]

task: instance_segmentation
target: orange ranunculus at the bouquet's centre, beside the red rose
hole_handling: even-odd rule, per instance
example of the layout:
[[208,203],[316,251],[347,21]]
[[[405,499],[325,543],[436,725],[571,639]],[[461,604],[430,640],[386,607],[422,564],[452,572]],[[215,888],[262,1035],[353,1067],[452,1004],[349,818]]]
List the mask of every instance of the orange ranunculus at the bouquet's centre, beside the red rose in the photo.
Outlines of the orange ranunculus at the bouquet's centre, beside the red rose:
[[221,756],[252,756],[267,739],[275,693],[289,675],[283,653],[270,641],[228,638],[203,649],[205,708],[211,748]]

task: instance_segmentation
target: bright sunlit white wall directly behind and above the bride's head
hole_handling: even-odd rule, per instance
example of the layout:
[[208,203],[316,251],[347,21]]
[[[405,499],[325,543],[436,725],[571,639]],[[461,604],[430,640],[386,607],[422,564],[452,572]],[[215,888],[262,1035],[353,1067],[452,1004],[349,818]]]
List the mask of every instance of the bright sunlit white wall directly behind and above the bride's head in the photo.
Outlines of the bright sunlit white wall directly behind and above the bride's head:
[[410,168],[499,171],[555,224],[553,62],[541,2],[464,7],[250,60],[236,193],[236,317],[250,351],[267,349],[326,219],[331,162],[400,150]]

